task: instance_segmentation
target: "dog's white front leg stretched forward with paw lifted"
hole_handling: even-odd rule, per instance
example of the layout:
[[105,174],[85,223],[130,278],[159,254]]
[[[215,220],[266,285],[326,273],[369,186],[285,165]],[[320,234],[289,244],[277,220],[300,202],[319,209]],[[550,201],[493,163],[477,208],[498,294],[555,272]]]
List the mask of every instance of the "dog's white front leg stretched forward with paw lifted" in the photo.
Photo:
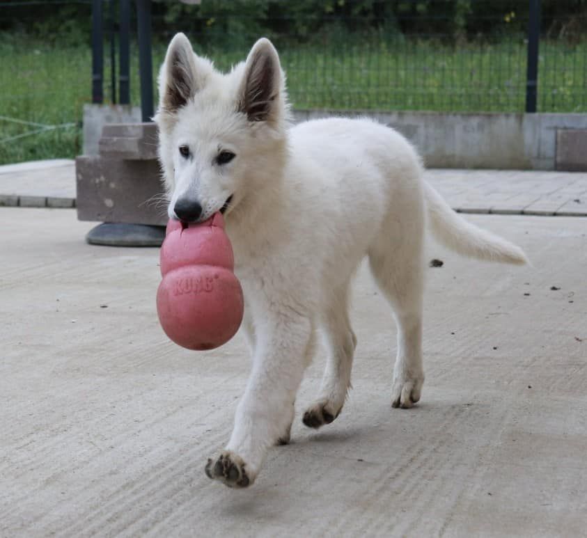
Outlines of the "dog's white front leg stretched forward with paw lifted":
[[255,480],[267,449],[289,435],[295,395],[311,358],[310,320],[272,312],[256,331],[253,369],[237,407],[226,449],[208,459],[206,474],[230,487]]

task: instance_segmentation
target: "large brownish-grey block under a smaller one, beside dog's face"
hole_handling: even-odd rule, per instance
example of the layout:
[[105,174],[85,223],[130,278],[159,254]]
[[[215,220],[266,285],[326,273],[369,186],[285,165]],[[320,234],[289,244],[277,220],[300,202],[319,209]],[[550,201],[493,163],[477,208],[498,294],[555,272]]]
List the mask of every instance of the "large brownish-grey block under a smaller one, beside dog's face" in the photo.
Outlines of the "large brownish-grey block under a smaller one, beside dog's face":
[[82,156],[75,165],[80,221],[166,224],[165,208],[154,201],[164,193],[157,161]]

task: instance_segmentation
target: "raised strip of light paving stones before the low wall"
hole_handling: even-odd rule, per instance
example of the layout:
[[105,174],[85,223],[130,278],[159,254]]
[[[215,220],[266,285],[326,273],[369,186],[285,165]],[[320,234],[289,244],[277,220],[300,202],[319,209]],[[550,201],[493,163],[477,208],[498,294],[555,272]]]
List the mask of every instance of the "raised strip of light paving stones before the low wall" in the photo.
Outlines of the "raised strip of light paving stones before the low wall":
[[[587,215],[587,173],[430,170],[426,177],[462,212]],[[2,205],[74,207],[74,162],[0,166]]]

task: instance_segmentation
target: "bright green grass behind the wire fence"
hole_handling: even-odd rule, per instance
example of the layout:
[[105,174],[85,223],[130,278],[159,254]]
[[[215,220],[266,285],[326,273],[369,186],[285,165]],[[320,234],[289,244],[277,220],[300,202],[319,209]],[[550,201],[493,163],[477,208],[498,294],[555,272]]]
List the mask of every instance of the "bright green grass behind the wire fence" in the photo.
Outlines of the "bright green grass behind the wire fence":
[[[133,47],[136,51],[136,47]],[[450,47],[398,40],[336,47],[280,47],[290,100],[298,109],[522,112],[526,47],[522,40]],[[155,73],[165,46],[153,51]],[[206,51],[221,69],[244,50]],[[0,164],[75,157],[81,152],[84,103],[91,102],[89,47],[56,47],[0,34],[0,116],[58,127],[41,129],[0,119]],[[104,55],[107,61],[108,55]],[[538,106],[542,112],[587,112],[587,42],[541,42]],[[105,79],[109,80],[106,65]],[[132,102],[139,104],[138,61],[132,58]],[[104,97],[110,95],[105,84]],[[6,140],[19,137],[13,140]]]

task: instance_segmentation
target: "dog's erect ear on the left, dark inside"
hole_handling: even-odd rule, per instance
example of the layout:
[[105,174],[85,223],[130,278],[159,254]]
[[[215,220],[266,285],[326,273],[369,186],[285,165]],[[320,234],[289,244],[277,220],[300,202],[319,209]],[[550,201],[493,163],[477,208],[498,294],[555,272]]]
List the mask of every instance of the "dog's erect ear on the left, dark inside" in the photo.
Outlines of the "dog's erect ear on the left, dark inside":
[[191,44],[183,33],[175,34],[169,43],[159,77],[159,108],[174,113],[200,89]]

